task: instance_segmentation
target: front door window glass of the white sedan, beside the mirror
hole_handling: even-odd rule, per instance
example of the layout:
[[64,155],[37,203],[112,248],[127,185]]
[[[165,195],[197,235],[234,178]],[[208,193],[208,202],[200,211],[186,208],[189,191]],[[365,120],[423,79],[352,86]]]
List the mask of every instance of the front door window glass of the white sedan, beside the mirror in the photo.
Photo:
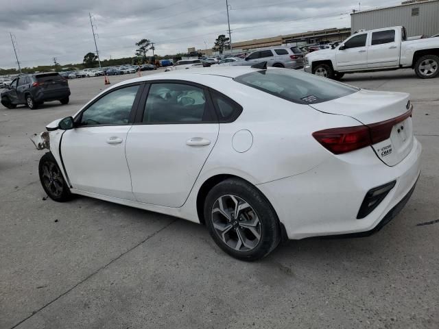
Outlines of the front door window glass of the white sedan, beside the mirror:
[[126,125],[139,85],[120,88],[99,98],[82,112],[80,125]]

